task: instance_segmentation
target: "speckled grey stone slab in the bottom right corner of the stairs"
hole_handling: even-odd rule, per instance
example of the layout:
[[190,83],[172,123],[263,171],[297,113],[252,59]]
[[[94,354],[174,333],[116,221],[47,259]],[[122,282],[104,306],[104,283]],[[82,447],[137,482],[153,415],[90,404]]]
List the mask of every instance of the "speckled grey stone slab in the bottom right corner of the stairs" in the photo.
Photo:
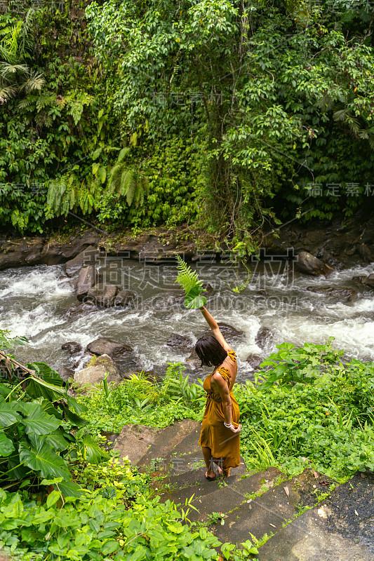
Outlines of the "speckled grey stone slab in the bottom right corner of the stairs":
[[374,561],[374,475],[356,473],[265,543],[260,561]]

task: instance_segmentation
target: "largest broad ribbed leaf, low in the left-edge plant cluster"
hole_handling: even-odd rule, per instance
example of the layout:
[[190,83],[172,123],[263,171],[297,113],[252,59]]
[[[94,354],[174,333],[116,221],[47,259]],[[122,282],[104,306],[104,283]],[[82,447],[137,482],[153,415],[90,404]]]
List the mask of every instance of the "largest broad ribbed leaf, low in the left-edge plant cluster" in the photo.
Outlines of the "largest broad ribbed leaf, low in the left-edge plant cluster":
[[29,435],[31,446],[20,443],[20,461],[25,466],[38,472],[42,478],[72,478],[66,462],[53,452],[52,447],[44,439]]

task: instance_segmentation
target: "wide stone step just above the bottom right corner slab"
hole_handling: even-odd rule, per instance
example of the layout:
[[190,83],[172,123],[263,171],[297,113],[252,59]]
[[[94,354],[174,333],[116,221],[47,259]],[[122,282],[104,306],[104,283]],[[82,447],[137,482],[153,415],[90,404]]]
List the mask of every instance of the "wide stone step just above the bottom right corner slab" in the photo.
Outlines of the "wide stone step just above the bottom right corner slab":
[[[324,480],[332,482],[329,478]],[[279,532],[283,524],[292,520],[300,512],[300,506],[314,506],[316,492],[326,492],[319,487],[312,470],[305,470],[298,477],[282,482],[258,497],[243,497],[241,506],[225,516],[225,525],[215,525],[215,535],[220,541],[241,543],[252,539],[262,539],[265,534]],[[285,560],[288,561],[288,560]]]

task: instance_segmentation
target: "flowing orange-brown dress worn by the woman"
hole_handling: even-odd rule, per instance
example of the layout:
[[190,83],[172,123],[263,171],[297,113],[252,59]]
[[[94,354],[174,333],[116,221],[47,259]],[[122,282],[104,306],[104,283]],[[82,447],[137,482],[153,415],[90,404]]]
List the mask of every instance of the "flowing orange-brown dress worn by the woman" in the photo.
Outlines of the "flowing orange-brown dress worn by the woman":
[[[236,363],[234,351],[230,351],[227,354]],[[232,433],[223,424],[225,415],[222,410],[221,396],[211,389],[211,377],[214,372],[206,377],[203,384],[203,388],[206,391],[206,407],[203,414],[199,445],[211,448],[213,460],[223,458],[222,468],[236,468],[240,464],[240,434]],[[227,381],[227,385],[230,388],[231,379],[227,368],[221,366],[218,372]],[[232,390],[229,391],[232,403],[232,424],[234,427],[237,427],[239,426],[240,417],[239,405],[234,398]]]

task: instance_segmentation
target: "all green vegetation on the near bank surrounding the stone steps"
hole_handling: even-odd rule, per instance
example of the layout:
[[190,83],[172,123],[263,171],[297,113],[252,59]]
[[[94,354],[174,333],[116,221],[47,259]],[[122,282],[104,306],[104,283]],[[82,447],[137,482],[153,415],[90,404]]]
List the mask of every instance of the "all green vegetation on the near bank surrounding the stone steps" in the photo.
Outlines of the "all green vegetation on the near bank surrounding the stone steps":
[[[30,561],[217,559],[215,536],[187,523],[188,501],[159,503],[150,471],[120,465],[102,437],[129,423],[200,420],[201,382],[189,384],[171,364],[162,380],[140,373],[117,386],[86,386],[72,398],[46,365],[15,364],[17,343],[25,340],[1,332],[8,358],[0,384],[0,548]],[[308,466],[338,482],[373,471],[374,363],[342,363],[332,338],[277,347],[255,383],[235,388],[247,468],[278,466],[295,475]],[[222,551],[233,561],[249,555]]]

